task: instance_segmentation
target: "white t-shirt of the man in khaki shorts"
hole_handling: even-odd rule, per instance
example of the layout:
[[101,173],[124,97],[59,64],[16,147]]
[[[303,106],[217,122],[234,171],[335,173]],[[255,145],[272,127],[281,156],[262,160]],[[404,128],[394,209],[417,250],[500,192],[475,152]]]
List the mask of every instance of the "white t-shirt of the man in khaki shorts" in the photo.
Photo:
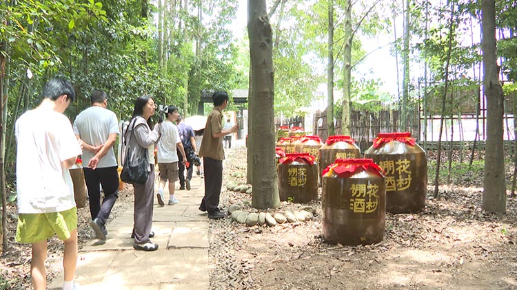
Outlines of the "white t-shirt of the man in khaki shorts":
[[158,141],[158,163],[172,163],[178,161],[176,144],[181,142],[179,139],[178,126],[169,120],[161,123],[161,137]]

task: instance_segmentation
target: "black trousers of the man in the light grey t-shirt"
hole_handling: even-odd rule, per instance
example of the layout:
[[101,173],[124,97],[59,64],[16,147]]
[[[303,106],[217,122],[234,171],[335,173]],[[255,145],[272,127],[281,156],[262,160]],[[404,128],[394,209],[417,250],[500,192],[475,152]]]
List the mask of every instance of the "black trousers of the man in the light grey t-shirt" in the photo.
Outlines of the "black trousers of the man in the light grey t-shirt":
[[[105,168],[83,168],[88,199],[90,201],[90,214],[92,219],[99,219],[105,224],[110,216],[116,199],[119,198],[119,172],[117,166]],[[104,190],[104,199],[101,203],[101,188]]]

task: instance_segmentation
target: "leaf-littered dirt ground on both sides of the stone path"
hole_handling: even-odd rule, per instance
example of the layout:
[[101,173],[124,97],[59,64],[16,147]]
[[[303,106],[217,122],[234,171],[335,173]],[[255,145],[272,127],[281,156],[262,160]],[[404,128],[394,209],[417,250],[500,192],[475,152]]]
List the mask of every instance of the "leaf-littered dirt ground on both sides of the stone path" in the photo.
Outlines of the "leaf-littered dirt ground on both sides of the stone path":
[[[245,154],[245,148],[227,153],[223,184],[245,182]],[[325,243],[320,199],[270,210],[310,206],[316,214],[307,222],[247,227],[230,219],[210,221],[210,288],[517,289],[516,199],[507,199],[506,214],[485,214],[482,180],[474,176],[469,187],[440,186],[438,199],[432,199],[434,188],[428,186],[425,210],[387,214],[384,239],[375,245]],[[251,202],[251,196],[223,186],[223,208],[244,201]],[[112,218],[128,207],[130,186],[120,193]],[[30,247],[14,243],[15,212],[10,206],[10,250],[0,256],[0,289],[30,289]],[[81,245],[94,237],[88,221],[88,210],[79,210]],[[48,248],[47,276],[52,280],[61,271],[62,243],[54,238]]]

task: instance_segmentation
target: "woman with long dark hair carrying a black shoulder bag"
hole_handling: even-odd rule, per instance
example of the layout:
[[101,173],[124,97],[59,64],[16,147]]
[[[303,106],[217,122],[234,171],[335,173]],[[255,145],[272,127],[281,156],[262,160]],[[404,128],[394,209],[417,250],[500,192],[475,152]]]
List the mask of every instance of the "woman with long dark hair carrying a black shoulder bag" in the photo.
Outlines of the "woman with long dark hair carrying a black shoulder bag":
[[[154,161],[150,161],[154,150],[154,143],[160,137],[160,124],[152,128],[151,116],[154,115],[156,104],[151,96],[141,96],[134,103],[133,116],[123,134],[125,145],[130,152],[125,158],[131,157],[130,164],[144,162],[148,164],[148,179],[145,183],[134,183],[134,214],[133,214],[133,248],[142,251],[154,251],[158,244],[152,243],[150,238],[154,202]],[[154,157],[152,157],[154,159]]]

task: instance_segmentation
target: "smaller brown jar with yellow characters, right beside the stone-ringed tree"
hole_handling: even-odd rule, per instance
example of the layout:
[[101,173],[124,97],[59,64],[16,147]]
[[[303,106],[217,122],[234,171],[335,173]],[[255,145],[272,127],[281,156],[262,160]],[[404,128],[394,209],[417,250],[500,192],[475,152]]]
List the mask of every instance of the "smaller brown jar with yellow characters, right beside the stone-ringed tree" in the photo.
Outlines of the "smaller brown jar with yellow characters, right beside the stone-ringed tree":
[[307,203],[318,198],[318,166],[307,153],[287,153],[278,164],[281,201]]

